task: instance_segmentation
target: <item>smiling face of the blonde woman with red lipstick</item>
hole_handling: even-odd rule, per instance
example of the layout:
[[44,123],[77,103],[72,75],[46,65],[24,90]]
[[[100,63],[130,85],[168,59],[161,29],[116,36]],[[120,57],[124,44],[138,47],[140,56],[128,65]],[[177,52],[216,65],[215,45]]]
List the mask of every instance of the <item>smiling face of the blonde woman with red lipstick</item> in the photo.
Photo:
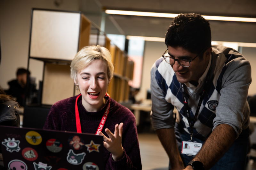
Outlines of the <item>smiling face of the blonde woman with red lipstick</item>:
[[77,82],[82,94],[82,104],[86,111],[99,111],[103,105],[103,98],[110,82],[106,63],[93,60],[90,65],[77,73]]

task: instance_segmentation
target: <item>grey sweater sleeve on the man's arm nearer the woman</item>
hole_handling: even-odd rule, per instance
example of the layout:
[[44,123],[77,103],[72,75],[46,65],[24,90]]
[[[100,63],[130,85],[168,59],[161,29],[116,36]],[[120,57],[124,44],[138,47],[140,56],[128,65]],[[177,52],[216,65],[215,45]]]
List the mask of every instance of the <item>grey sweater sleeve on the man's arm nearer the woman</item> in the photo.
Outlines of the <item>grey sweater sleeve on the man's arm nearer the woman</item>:
[[173,106],[164,99],[162,89],[160,89],[156,80],[156,65],[151,68],[151,122],[155,130],[167,129],[173,126]]

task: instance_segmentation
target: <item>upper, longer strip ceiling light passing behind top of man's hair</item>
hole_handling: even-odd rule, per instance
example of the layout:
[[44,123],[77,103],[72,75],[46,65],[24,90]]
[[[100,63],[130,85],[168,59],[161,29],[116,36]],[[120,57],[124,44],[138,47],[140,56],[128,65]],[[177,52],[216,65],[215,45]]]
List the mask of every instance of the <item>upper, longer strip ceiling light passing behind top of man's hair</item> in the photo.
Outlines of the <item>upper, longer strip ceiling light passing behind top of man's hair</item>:
[[[170,14],[170,13],[120,11],[120,10],[106,10],[105,12],[107,14],[135,15],[135,16],[147,16],[147,17],[165,17],[165,18],[174,18],[177,15],[179,15],[179,14]],[[220,17],[220,16],[207,16],[207,15],[202,15],[202,16],[207,20],[256,22],[256,18]]]

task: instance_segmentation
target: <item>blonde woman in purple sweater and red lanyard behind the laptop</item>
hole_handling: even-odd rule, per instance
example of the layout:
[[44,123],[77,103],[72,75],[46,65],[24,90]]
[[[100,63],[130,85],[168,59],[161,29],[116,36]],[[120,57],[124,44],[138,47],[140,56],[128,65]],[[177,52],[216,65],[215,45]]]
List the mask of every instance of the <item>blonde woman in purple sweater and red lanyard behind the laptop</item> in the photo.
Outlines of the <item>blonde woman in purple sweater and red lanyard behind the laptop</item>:
[[[81,94],[55,103],[44,129],[79,132],[80,126],[76,125],[76,113],[79,113],[80,132],[97,132],[103,136],[106,170],[139,170],[142,167],[135,117],[106,93],[113,70],[108,49],[100,46],[81,49],[70,70]],[[100,132],[98,126],[106,111],[107,120]]]

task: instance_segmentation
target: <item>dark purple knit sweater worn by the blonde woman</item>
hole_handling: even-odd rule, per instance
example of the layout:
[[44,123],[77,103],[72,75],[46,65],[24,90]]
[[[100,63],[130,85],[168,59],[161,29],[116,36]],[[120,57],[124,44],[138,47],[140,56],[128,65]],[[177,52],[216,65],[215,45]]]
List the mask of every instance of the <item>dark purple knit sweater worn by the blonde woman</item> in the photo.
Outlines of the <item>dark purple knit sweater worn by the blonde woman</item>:
[[[63,130],[76,132],[75,102],[76,97],[60,100],[52,105],[49,115],[44,124],[44,129]],[[87,112],[82,105],[82,97],[79,97],[77,106],[80,116],[82,133],[95,134],[100,124],[100,120],[108,106],[109,97],[105,97],[107,102],[98,112]],[[136,128],[135,117],[126,107],[111,99],[107,121],[102,129],[103,134],[108,137],[105,128],[113,134],[115,125],[124,123],[122,146],[124,157],[118,161],[112,159],[111,153],[104,148],[105,169],[106,170],[141,170],[140,147]]]

